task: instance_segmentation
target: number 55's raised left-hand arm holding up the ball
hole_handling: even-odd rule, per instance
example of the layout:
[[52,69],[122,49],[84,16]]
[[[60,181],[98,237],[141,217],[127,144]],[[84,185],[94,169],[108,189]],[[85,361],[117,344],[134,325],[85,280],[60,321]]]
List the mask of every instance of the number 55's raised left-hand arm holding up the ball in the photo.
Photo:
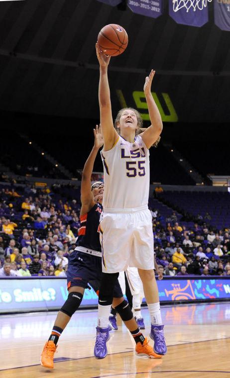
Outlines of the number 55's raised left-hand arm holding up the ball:
[[104,149],[110,150],[118,138],[115,131],[111,100],[110,100],[110,86],[108,80],[108,65],[110,63],[110,56],[104,54],[96,43],[97,57],[100,63],[100,81],[99,81],[99,106],[100,106],[100,120],[104,136]]

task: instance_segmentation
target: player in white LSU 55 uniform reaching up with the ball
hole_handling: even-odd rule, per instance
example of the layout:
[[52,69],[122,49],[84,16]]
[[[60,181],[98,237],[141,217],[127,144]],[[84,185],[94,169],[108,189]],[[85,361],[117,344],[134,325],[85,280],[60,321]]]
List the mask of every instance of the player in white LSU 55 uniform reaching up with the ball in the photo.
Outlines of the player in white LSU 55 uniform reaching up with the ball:
[[[100,63],[99,105],[104,147],[104,213],[100,220],[102,244],[102,281],[99,292],[99,314],[95,357],[106,357],[109,339],[108,319],[113,302],[113,288],[118,272],[137,267],[143,283],[145,299],[151,316],[150,337],[158,355],[167,352],[161,320],[158,288],[154,275],[152,216],[148,210],[149,148],[162,131],[162,120],[151,95],[155,71],[146,77],[144,94],[151,126],[135,136],[142,126],[140,114],[134,109],[121,109],[112,118],[108,65],[110,57],[96,44]],[[102,358],[102,357],[101,357]]]

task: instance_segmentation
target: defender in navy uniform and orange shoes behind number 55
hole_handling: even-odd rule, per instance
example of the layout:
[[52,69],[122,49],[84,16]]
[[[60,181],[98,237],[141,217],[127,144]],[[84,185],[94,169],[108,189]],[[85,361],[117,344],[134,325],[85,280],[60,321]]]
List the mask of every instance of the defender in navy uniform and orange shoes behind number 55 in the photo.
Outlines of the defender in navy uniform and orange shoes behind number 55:
[[[104,183],[96,182],[91,186],[94,161],[99,148],[103,145],[101,127],[96,126],[94,135],[94,147],[86,161],[82,175],[81,228],[76,243],[77,247],[75,251],[69,255],[67,270],[69,295],[61,310],[58,312],[51,335],[49,340],[45,343],[41,355],[41,365],[49,369],[53,369],[54,367],[53,358],[57,349],[58,339],[69,323],[71,316],[79,308],[88,283],[90,283],[97,292],[99,288],[98,282],[100,282],[102,276],[102,252],[98,230],[102,212]],[[115,282],[113,296],[113,305],[136,342],[136,354],[157,358],[158,356],[146,343],[142,333],[140,333],[132,311],[123,298],[118,281]]]

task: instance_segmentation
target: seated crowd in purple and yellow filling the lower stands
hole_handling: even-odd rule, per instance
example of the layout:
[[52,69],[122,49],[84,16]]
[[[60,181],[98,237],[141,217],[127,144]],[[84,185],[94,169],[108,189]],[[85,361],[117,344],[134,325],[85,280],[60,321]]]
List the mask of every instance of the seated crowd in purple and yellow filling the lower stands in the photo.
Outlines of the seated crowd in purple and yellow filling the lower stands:
[[[154,250],[164,275],[230,275],[230,229],[180,224],[151,210]],[[80,228],[79,189],[0,186],[0,276],[65,277]]]

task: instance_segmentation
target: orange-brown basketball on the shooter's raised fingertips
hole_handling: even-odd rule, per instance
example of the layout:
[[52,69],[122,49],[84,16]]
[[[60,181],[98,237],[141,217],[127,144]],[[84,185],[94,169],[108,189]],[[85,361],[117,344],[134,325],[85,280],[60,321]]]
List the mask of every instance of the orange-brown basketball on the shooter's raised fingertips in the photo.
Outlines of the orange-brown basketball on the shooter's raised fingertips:
[[98,46],[110,56],[122,54],[128,44],[128,35],[122,26],[111,23],[98,34]]

